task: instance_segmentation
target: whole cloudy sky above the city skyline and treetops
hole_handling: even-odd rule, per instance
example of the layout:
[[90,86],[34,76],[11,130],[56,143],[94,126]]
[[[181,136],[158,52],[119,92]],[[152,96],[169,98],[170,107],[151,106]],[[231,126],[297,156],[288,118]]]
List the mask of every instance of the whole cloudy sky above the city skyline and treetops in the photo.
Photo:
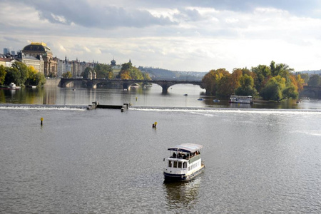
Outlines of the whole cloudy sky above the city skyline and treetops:
[[1,0],[0,20],[0,53],[43,41],[58,58],[173,71],[321,69],[321,0]]

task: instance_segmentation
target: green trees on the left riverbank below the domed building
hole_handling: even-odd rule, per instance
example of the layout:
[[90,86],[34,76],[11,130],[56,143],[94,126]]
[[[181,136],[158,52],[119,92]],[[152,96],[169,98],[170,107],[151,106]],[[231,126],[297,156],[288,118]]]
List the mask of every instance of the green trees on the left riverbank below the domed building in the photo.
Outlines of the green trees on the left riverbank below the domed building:
[[0,65],[0,85],[9,86],[10,83],[16,86],[44,86],[46,78],[34,67],[16,61],[11,67]]

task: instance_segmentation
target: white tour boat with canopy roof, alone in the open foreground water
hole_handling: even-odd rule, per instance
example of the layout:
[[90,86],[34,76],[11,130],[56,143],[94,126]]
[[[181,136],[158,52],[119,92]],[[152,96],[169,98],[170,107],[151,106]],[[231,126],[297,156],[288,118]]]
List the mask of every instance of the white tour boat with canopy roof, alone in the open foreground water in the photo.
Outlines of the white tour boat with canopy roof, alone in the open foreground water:
[[165,163],[165,181],[190,180],[199,175],[205,168],[200,158],[201,148],[203,146],[194,143],[183,143],[168,148],[170,157]]

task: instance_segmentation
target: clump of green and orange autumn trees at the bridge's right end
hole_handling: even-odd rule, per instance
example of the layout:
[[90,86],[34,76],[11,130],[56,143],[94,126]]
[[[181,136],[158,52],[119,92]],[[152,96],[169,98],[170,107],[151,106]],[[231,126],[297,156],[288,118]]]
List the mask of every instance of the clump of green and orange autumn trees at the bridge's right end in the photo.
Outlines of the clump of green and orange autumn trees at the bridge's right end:
[[261,96],[264,100],[280,101],[298,98],[308,81],[307,73],[296,75],[294,69],[286,64],[271,61],[270,66],[259,65],[250,70],[235,68],[232,73],[225,68],[211,70],[203,77],[201,87],[220,98],[231,95]]

